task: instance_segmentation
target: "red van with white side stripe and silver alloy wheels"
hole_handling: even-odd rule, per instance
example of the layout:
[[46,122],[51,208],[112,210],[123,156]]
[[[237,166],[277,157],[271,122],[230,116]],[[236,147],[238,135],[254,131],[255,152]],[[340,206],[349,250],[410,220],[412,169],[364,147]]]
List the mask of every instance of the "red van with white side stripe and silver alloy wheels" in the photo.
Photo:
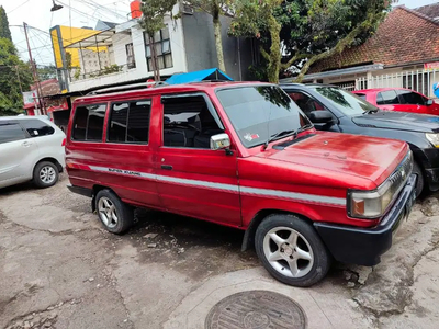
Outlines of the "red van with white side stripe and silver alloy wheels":
[[331,259],[374,265],[415,198],[399,140],[317,132],[277,86],[190,83],[77,99],[70,191],[114,234],[134,207],[245,231],[278,280],[308,286]]

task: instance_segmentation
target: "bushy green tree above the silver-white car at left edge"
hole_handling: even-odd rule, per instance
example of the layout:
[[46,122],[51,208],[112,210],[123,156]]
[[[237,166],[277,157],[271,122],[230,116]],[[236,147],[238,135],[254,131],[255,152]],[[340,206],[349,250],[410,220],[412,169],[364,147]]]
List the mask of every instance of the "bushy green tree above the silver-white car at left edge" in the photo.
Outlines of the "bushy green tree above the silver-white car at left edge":
[[29,90],[32,81],[30,66],[20,60],[11,41],[0,37],[0,115],[23,111],[21,90]]

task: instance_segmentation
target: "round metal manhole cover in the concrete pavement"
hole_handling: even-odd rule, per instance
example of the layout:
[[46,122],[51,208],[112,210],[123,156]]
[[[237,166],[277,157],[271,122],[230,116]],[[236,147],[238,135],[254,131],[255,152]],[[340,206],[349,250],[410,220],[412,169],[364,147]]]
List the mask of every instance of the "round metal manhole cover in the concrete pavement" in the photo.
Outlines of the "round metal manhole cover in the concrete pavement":
[[266,291],[241,292],[217,303],[209,313],[206,329],[304,329],[306,316],[289,297]]

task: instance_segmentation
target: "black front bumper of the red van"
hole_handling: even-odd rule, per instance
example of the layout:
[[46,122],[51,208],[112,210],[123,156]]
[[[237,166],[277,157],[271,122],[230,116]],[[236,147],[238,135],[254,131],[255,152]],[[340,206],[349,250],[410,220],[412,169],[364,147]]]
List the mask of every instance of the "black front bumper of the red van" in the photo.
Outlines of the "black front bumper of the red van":
[[380,263],[381,254],[392,246],[394,232],[408,218],[416,200],[416,174],[412,174],[387,215],[375,227],[358,228],[314,223],[333,257],[340,262],[364,266]]

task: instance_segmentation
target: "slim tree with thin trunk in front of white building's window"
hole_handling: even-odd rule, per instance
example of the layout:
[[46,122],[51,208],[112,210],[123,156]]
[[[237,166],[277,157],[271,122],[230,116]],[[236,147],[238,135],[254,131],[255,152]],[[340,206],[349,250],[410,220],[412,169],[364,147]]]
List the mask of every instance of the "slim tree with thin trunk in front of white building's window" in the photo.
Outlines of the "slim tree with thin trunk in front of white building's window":
[[[160,70],[156,58],[156,49],[153,46],[154,35],[156,32],[166,27],[164,23],[165,14],[172,13],[172,9],[176,4],[176,0],[142,0],[142,12],[143,16],[140,20],[140,26],[145,30],[149,37],[149,48],[151,53],[151,63],[154,70],[154,78],[156,81],[160,80]],[[178,15],[173,16],[177,19]]]

